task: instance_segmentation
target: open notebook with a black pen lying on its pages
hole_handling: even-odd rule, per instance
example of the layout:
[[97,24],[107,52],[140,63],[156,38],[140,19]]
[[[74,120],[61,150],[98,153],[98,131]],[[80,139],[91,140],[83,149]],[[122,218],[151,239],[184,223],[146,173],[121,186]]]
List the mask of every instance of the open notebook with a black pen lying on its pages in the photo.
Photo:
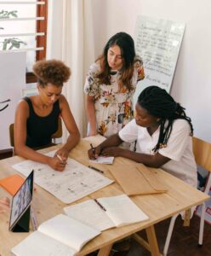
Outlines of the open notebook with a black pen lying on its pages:
[[148,219],[145,212],[124,194],[83,201],[65,207],[64,211],[71,218],[100,231]]

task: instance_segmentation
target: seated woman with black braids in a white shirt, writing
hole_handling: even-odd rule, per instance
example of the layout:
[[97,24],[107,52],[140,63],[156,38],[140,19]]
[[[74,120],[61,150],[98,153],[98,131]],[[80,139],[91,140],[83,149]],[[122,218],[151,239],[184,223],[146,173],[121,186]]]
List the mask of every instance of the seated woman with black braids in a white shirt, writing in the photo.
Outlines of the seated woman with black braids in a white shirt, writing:
[[[140,93],[135,110],[135,119],[121,131],[94,150],[88,150],[89,158],[95,159],[100,154],[126,157],[145,166],[162,167],[197,187],[197,165],[192,153],[193,127],[185,108],[166,90],[149,86]],[[117,147],[123,142],[135,141],[135,151]]]

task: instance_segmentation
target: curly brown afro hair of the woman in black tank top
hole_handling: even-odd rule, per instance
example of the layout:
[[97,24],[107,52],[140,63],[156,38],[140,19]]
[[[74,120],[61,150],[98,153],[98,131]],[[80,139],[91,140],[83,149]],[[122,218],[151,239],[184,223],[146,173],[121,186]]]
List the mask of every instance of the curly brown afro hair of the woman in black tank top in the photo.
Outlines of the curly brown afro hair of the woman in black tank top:
[[62,86],[71,76],[70,68],[58,60],[37,61],[33,66],[33,73],[43,87],[48,83]]

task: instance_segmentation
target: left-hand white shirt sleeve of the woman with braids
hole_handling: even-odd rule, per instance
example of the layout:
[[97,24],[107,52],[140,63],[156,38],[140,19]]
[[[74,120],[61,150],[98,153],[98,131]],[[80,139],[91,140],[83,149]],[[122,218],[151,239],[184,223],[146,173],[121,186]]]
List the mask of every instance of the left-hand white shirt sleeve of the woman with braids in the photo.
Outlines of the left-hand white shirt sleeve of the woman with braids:
[[131,120],[127,125],[119,131],[119,137],[126,143],[133,143],[138,138],[138,125],[135,123],[135,119]]

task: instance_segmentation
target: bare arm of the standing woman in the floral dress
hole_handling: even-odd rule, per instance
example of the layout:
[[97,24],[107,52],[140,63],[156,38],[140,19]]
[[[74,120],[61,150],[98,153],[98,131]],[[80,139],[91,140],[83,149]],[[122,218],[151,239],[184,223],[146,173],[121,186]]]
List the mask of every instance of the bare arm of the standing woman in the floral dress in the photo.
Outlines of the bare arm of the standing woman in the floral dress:
[[95,108],[94,108],[94,96],[86,96],[86,110],[87,110],[88,123],[90,125],[90,131],[88,133],[88,136],[97,135],[98,132],[96,130],[96,116],[95,116]]

